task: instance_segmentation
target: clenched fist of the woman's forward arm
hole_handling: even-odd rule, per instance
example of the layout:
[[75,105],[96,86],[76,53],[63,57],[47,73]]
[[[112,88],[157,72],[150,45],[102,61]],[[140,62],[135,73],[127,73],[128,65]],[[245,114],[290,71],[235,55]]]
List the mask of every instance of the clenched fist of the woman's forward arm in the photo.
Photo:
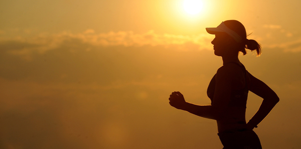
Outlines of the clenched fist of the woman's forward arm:
[[169,104],[177,109],[185,110],[187,102],[180,92],[172,92],[169,95]]

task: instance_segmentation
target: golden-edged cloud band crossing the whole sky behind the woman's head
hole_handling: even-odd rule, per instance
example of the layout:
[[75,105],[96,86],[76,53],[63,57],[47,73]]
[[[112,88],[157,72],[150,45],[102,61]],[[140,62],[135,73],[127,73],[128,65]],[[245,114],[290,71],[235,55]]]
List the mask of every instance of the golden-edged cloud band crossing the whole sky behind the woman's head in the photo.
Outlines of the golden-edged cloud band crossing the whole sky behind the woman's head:
[[[294,37],[292,33],[283,29],[280,25],[265,24],[263,34],[265,36],[251,34],[250,39],[262,43],[263,47],[283,48],[285,51],[300,51],[299,39]],[[30,54],[38,52],[40,54],[45,51],[60,48],[62,46],[74,47],[73,42],[86,45],[86,51],[92,47],[141,47],[141,46],[164,46],[175,47],[177,50],[211,50],[213,48],[211,41],[213,35],[200,33],[196,35],[175,35],[175,34],[158,34],[154,30],[146,33],[134,33],[133,31],[119,31],[108,33],[95,33],[93,29],[87,29],[82,33],[72,33],[63,31],[61,33],[40,33],[38,35],[30,34],[29,29],[23,31],[25,34],[9,37],[8,33],[1,31],[0,36],[1,49],[9,50],[10,54],[20,55],[23,59],[31,61]],[[253,30],[248,30],[252,33]],[[5,33],[5,34],[4,34]],[[19,32],[18,32],[19,33]],[[30,34],[30,35],[29,35]],[[282,42],[279,42],[282,40]],[[275,44],[276,43],[276,44]],[[293,48],[292,48],[293,47]],[[292,48],[292,49],[290,49]]]

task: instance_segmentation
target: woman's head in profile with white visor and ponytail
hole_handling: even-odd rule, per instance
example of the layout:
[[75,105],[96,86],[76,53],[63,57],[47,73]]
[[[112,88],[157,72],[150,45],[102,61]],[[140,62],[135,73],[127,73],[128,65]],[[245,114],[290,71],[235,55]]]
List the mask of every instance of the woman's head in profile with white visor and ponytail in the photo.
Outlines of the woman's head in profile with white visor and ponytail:
[[215,34],[216,38],[211,42],[215,54],[222,56],[229,52],[242,52],[247,54],[245,48],[256,50],[257,56],[261,54],[261,46],[255,40],[247,39],[244,25],[237,20],[226,20],[216,28],[206,28],[209,34]]

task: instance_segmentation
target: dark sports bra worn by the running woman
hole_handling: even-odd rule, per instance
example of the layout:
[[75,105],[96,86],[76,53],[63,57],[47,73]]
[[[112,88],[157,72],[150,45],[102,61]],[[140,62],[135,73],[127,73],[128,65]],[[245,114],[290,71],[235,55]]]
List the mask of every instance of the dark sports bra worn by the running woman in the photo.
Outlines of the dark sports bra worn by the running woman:
[[[244,78],[245,78],[245,87],[239,90],[231,90],[231,96],[230,96],[230,102],[228,104],[229,107],[244,107],[247,108],[247,98],[248,98],[248,85],[247,85],[247,70],[244,67],[244,65],[240,66],[240,64],[236,62],[229,62],[229,63],[234,63],[237,64],[244,73]],[[227,63],[227,64],[229,64]],[[214,97],[214,91],[215,91],[215,76],[211,79],[208,88],[207,88],[207,96],[211,100],[211,105],[213,104],[213,97]]]

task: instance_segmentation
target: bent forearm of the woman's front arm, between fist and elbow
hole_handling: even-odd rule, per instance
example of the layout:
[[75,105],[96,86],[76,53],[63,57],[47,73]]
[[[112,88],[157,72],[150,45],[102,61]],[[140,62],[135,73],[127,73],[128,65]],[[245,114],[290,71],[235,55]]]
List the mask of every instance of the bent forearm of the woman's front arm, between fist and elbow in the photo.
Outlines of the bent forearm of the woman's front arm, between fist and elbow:
[[218,111],[212,105],[196,105],[186,102],[182,110],[207,119],[217,120],[219,117]]

